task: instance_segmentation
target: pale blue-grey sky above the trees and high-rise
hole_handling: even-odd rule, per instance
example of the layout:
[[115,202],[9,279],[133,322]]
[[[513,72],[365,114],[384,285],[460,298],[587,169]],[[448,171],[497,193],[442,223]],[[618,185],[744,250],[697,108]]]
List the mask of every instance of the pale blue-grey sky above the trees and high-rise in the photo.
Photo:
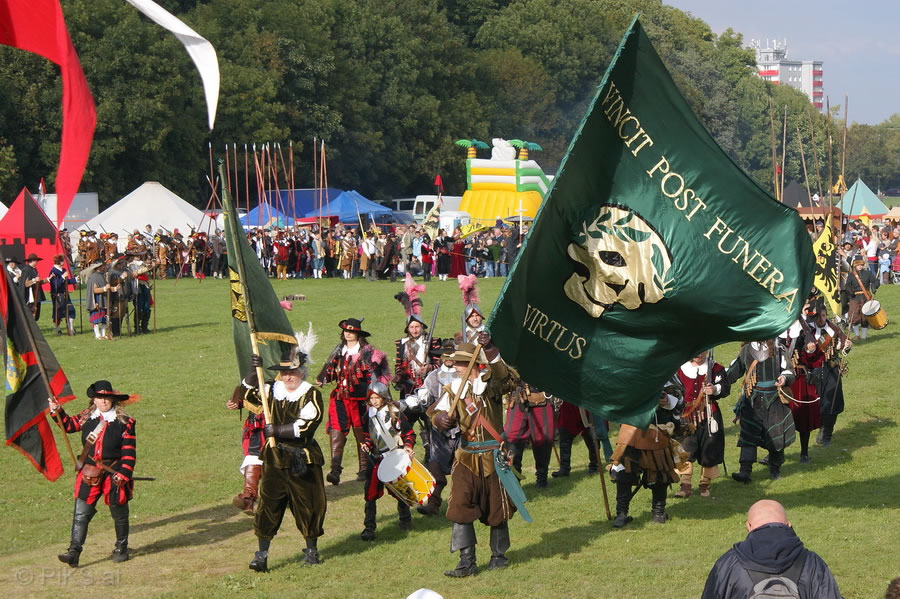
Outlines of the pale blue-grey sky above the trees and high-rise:
[[[878,124],[900,112],[900,0],[663,0],[721,33],[787,39],[790,60],[821,60],[825,96],[850,122]],[[765,46],[765,42],[763,42]],[[843,116],[843,110],[841,110]]]

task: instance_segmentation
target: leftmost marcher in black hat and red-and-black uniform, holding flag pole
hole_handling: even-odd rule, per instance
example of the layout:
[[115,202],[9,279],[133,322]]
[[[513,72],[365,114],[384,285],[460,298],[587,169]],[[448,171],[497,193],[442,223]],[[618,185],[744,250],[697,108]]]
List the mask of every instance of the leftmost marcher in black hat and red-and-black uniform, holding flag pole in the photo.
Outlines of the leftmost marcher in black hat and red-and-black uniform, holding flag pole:
[[128,559],[128,502],[134,494],[134,466],[137,439],[134,418],[122,409],[137,399],[114,391],[109,381],[97,381],[87,389],[91,403],[77,416],[50,401],[50,414],[62,423],[67,433],[81,432],[83,464],[75,478],[75,514],[72,540],[59,561],[77,567],[81,548],[87,538],[88,524],[97,513],[97,501],[103,497],[116,529],[114,562]]

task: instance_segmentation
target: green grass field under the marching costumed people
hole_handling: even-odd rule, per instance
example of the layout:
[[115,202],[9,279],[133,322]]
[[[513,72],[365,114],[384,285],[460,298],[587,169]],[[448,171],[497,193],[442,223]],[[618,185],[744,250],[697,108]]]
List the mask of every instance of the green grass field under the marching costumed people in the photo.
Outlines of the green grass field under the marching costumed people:
[[[486,309],[500,283],[480,283]],[[337,323],[346,317],[365,317],[371,342],[393,357],[392,340],[404,320],[392,297],[400,283],[326,279],[274,285],[279,297],[308,296],[308,301],[295,302],[288,315],[297,329],[305,330],[312,321],[320,336],[312,372],[334,346]],[[890,317],[900,318],[900,288],[884,287],[878,297]],[[458,330],[461,302],[455,282],[429,283],[424,298],[428,316],[435,302],[441,303],[439,336]],[[844,385],[847,411],[838,420],[831,447],[812,447],[807,465],[799,463],[799,445],[790,447],[781,480],[769,481],[762,467],[749,486],[723,477],[713,483],[712,498],[671,498],[672,519],[664,526],[649,522],[650,497],[643,490],[632,503],[633,524],[614,530],[604,515],[600,479],[585,473],[582,446],[573,452],[573,476],[551,480],[543,491],[534,488],[528,455],[524,489],[534,523],[518,516],[510,523],[510,568],[482,570],[464,580],[442,575],[456,564],[456,555],[449,553],[446,519],[414,514],[414,530],[402,533],[394,503],[383,499],[378,539],[364,543],[358,537],[362,483],[342,482],[327,488],[326,532],[319,542],[325,563],[300,566],[303,539],[288,514],[272,543],[272,571],[261,575],[247,568],[256,548],[252,521],[231,506],[242,485],[242,456],[241,420],[224,407],[238,382],[227,283],[182,280],[176,286],[164,281],[157,302],[155,335],[115,342],[95,341],[87,330],[75,337],[49,334],[47,307],[41,323],[78,396],[69,412],[86,404],[84,390],[97,379],[108,378],[120,390],[139,393],[142,401],[128,408],[137,419],[136,474],[157,480],[136,483],[131,561],[110,560],[113,526],[108,510],[100,506],[82,567],[71,570],[56,559],[68,546],[73,504],[71,464],[61,437],[57,435],[66,474],[55,483],[44,480],[15,450],[3,449],[0,588],[7,596],[89,591],[133,599],[405,597],[427,587],[448,598],[698,597],[715,560],[744,538],[747,508],[764,497],[787,506],[798,534],[828,562],[845,597],[883,596],[888,581],[900,575],[896,323],[873,332],[852,351]],[[717,358],[727,364],[736,349],[737,344],[719,348]],[[722,402],[726,413],[735,395]],[[323,423],[319,437],[327,452],[324,428]],[[738,466],[734,425],[727,426],[726,435],[733,471]],[[77,442],[74,435],[71,439]],[[352,471],[355,456],[349,451],[345,466],[350,464]],[[675,490],[673,486],[670,497]],[[486,566],[487,529],[476,525],[476,531],[479,561]]]

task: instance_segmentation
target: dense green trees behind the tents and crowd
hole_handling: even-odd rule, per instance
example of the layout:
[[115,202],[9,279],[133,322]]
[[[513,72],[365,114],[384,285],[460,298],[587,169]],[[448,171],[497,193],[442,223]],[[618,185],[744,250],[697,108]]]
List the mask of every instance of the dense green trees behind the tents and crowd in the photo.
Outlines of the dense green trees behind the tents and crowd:
[[[242,160],[245,143],[292,140],[296,185],[311,187],[312,140],[325,140],[331,186],[376,201],[431,193],[436,174],[447,193],[462,193],[459,138],[537,143],[543,151],[532,157],[552,173],[636,12],[701,121],[760,183],[772,188],[772,139],[780,148],[785,108],[786,178],[804,180],[798,130],[811,178],[810,131],[822,176],[828,160],[834,178],[840,169],[842,123],[811,111],[800,91],[756,77],[740,34],[714,34],[660,0],[160,4],[216,48],[221,93],[212,132],[199,75],[171,34],[122,0],[62,0],[97,105],[81,190],[98,192],[101,206],[148,180],[205,206],[208,143],[217,154],[236,143]],[[0,47],[7,203],[41,177],[53,189],[60,96],[55,65]],[[900,184],[897,121],[850,128],[848,178]]]

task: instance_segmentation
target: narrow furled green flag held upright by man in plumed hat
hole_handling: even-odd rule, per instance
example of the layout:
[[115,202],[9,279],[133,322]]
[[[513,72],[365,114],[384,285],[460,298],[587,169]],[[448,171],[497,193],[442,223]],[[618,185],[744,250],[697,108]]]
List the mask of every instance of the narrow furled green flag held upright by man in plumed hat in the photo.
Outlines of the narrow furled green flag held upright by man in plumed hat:
[[[226,181],[224,174],[220,178]],[[291,323],[269,277],[247,242],[244,229],[237,220],[231,194],[223,185],[222,208],[225,212],[225,244],[228,248],[228,276],[231,282],[231,325],[234,353],[241,377],[246,376],[250,361],[250,321],[254,325],[263,368],[281,361],[282,351],[297,344]],[[243,285],[241,284],[243,276]],[[246,293],[245,293],[246,292]],[[249,315],[249,320],[248,320]]]

